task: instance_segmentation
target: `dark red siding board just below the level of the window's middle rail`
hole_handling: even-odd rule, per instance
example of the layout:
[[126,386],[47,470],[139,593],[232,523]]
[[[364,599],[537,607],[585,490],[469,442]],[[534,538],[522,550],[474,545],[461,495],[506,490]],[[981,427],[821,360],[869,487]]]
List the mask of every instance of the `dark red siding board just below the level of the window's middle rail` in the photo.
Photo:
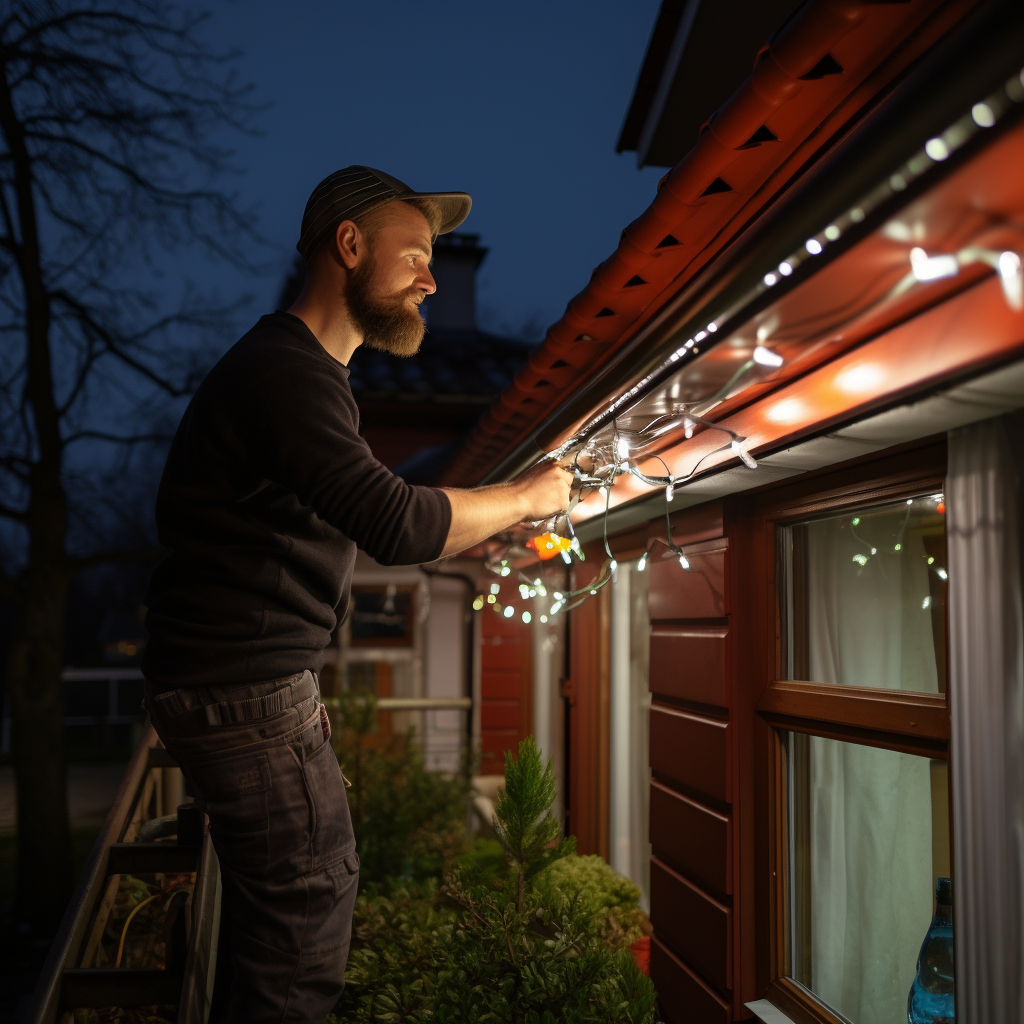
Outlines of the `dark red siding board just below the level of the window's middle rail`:
[[726,722],[655,705],[650,710],[650,767],[689,790],[729,802]]

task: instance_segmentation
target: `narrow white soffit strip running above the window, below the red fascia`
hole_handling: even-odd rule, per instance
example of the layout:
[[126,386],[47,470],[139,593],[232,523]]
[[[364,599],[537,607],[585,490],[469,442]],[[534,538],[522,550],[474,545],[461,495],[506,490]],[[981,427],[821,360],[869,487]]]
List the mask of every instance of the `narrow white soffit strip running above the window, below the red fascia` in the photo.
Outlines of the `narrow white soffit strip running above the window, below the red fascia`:
[[[811,470],[822,469],[848,462],[859,456],[870,455],[884,449],[903,444],[919,437],[941,434],[954,427],[963,427],[978,420],[987,420],[1024,407],[1024,359],[1008,367],[975,377],[964,384],[922,398],[920,401],[898,406],[886,413],[879,413],[843,427],[833,433],[812,437],[793,447],[758,457],[758,468],[732,466],[718,473],[681,484],[669,506],[671,512],[705,502],[724,498],[726,495],[762,487],[766,483],[799,476]],[[664,516],[665,494],[654,492],[612,509],[608,513],[608,532],[617,532],[646,522],[654,516]],[[603,516],[597,515],[575,527],[581,541],[600,537]]]

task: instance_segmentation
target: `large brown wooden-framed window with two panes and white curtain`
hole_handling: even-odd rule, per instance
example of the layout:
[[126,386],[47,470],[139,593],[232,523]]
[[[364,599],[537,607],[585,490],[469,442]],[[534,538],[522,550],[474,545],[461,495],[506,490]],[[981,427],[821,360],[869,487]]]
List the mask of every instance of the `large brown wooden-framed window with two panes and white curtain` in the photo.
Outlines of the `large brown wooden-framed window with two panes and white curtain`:
[[906,1020],[937,888],[955,898],[944,465],[935,444],[756,506],[775,595],[774,678],[757,701],[771,752],[767,997],[799,1024]]

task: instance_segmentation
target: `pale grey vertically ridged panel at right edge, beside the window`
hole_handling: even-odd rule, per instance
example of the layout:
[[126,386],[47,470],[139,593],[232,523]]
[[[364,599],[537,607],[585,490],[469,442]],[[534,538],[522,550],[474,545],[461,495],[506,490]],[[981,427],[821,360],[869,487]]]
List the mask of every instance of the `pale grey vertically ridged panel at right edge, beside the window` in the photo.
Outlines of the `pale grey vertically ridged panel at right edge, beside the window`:
[[1020,414],[949,434],[956,1020],[1024,1020]]

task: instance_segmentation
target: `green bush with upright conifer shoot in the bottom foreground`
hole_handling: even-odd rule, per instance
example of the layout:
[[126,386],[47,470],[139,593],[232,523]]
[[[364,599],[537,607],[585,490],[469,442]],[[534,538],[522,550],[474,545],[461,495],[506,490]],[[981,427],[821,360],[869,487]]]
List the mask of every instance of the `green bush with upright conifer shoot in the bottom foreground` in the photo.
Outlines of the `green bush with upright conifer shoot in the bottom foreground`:
[[497,842],[472,844],[439,888],[359,898],[337,1024],[655,1024],[650,979],[600,924],[635,908],[635,890],[570,855],[531,738],[505,777]]

